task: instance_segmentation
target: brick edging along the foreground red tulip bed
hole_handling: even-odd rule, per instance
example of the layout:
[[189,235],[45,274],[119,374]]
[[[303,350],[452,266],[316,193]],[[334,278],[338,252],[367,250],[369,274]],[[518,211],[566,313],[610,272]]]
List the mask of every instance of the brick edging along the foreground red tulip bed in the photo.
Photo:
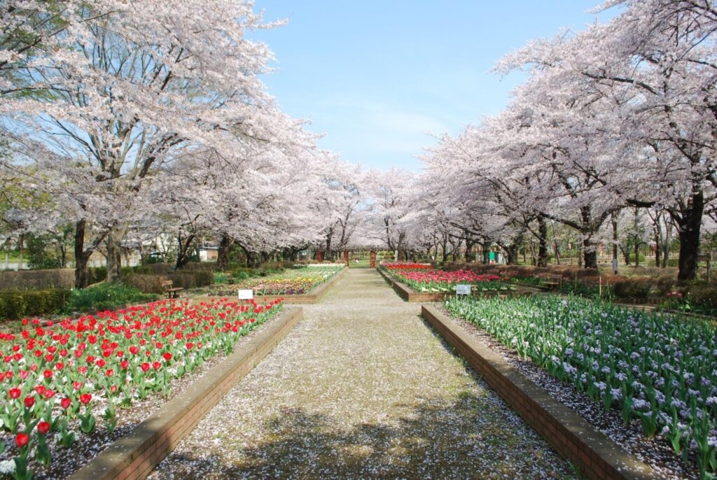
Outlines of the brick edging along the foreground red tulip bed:
[[164,403],[130,433],[82,466],[70,480],[143,479],[201,418],[247,375],[296,325],[300,307],[288,308],[266,328],[239,345],[222,363]]

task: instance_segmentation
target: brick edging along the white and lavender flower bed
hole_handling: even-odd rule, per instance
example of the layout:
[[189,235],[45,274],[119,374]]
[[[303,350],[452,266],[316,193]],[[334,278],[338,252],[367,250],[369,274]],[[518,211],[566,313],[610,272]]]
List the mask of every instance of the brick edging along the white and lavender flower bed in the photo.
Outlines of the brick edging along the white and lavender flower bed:
[[660,478],[435,307],[422,306],[421,315],[523,420],[589,479]]

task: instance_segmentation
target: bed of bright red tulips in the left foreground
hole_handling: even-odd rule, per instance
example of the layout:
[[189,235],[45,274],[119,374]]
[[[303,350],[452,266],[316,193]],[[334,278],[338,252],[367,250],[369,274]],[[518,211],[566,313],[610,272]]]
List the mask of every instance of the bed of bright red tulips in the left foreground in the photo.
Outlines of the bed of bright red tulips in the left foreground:
[[[21,333],[0,334],[0,475],[65,476],[56,470],[68,451],[112,436],[123,417],[168,398],[179,379],[229,354],[280,308],[280,300],[163,300],[47,327],[23,320]],[[77,456],[89,460],[86,451]]]

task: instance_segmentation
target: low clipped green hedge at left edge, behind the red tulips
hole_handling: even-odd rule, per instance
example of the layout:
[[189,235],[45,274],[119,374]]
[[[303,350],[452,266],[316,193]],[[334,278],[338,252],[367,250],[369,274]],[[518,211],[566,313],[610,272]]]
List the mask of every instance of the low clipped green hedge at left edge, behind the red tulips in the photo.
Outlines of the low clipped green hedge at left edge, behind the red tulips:
[[0,291],[0,318],[16,320],[54,315],[62,311],[69,298],[69,289],[3,290]]

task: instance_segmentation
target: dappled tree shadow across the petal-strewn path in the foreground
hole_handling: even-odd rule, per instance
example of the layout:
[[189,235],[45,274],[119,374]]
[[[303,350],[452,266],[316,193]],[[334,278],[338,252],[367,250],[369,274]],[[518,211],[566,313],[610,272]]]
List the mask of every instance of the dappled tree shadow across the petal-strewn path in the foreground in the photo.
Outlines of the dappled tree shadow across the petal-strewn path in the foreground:
[[[254,445],[174,453],[155,478],[184,479],[549,479],[571,469],[494,395],[458,392],[427,400],[392,423],[348,431],[331,418],[285,408],[265,422]],[[405,405],[399,405],[405,406]],[[346,405],[351,408],[351,405]],[[211,444],[212,439],[207,439]],[[209,450],[217,447],[211,446]],[[227,459],[232,459],[229,463]]]

